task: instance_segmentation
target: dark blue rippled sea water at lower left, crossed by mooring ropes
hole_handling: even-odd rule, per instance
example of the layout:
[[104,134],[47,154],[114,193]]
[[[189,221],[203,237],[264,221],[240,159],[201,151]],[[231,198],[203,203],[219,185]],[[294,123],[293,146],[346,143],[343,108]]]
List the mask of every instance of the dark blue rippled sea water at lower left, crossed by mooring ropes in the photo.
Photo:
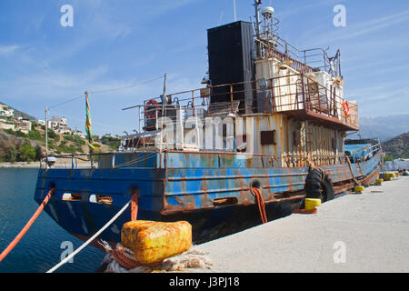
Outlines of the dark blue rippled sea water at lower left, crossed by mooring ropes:
[[[37,169],[0,168],[0,253],[35,213]],[[43,211],[15,248],[0,262],[0,273],[43,273],[83,242],[71,236]],[[72,247],[71,247],[72,246]],[[86,246],[55,272],[95,272],[105,253]]]

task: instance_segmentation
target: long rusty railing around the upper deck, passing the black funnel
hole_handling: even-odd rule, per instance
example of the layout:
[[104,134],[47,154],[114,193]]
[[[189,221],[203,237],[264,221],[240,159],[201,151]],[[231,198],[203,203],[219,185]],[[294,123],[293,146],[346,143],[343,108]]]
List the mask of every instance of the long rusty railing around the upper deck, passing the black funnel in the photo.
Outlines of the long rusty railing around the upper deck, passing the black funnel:
[[[287,79],[293,81],[285,83]],[[285,82],[282,82],[282,80]],[[336,80],[342,82],[340,78]],[[257,101],[256,104],[249,104],[245,99],[245,95],[252,95],[252,100]],[[356,104],[346,101],[335,90],[335,86],[326,88],[304,73],[294,73],[249,82],[207,85],[205,88],[168,94],[164,98],[167,100],[164,106],[165,115],[171,116],[170,112],[174,112],[175,115],[175,111],[182,109],[184,120],[189,116],[196,115],[205,118],[210,116],[211,98],[221,98],[223,101],[230,102],[230,112],[227,112],[227,114],[236,115],[234,102],[241,102],[239,115],[248,113],[244,111],[244,106],[253,113],[292,114],[308,111],[317,114],[317,117],[321,116],[323,119],[331,117],[333,121],[338,120],[339,123],[344,125],[352,125],[354,128],[359,126],[358,106]],[[162,101],[161,97],[153,99],[158,103]],[[161,116],[163,108],[162,105],[146,105],[147,101],[139,107],[143,109],[139,113],[141,132],[143,130],[156,130],[155,120],[158,116]],[[259,101],[271,101],[272,105],[270,107],[261,106]],[[145,127],[142,126],[143,124],[145,124]]]

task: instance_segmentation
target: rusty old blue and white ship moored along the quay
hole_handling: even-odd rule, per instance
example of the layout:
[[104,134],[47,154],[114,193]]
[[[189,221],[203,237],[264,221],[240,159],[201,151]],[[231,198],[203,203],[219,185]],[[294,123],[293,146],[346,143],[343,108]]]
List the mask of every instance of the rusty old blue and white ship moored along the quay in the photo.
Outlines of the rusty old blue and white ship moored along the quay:
[[[312,167],[334,196],[379,176],[381,148],[344,145],[357,131],[358,105],[344,96],[341,54],[298,50],[278,34],[272,7],[255,21],[208,29],[209,70],[198,89],[165,91],[136,105],[139,131],[92,165],[42,168],[35,200],[55,188],[45,211],[86,240],[137,197],[137,219],[186,220],[196,243],[260,224],[253,189],[268,220],[291,214],[308,196]],[[346,154],[348,155],[346,155]],[[58,156],[56,156],[58,158]],[[65,156],[66,158],[66,156]],[[324,189],[320,198],[328,200]],[[119,242],[125,211],[100,236]]]

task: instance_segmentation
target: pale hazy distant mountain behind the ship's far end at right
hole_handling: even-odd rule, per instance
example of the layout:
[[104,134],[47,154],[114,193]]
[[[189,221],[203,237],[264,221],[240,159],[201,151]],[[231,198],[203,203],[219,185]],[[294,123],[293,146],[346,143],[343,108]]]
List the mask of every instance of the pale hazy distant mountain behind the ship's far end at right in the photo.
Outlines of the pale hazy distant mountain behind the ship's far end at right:
[[409,115],[359,117],[359,124],[360,131],[348,138],[379,138],[387,141],[409,131]]

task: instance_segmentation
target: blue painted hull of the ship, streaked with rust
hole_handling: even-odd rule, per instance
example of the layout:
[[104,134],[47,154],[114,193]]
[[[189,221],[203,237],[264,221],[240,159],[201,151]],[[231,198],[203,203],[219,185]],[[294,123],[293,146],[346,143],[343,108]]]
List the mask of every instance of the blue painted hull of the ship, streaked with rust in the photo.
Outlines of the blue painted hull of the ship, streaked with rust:
[[[121,159],[130,158],[115,155],[119,164]],[[35,201],[40,204],[50,188],[55,187],[45,206],[46,213],[67,232],[86,240],[105,226],[136,190],[137,219],[186,220],[193,226],[194,242],[203,243],[262,223],[251,186],[261,189],[268,220],[290,215],[305,196],[308,167],[245,167],[240,163],[248,166],[254,160],[235,160],[237,155],[227,154],[201,157],[197,153],[195,158],[189,156],[194,154],[183,152],[139,155],[145,155],[143,162],[128,167],[41,169]],[[352,164],[354,176],[347,164],[321,167],[332,178],[335,193],[340,194],[354,186],[354,177],[364,184],[374,183],[379,176],[380,160],[377,153],[364,162]],[[65,201],[67,193],[81,197]],[[112,204],[90,201],[95,195],[112,197]],[[130,220],[129,207],[100,238],[111,244],[120,242],[121,227]]]

